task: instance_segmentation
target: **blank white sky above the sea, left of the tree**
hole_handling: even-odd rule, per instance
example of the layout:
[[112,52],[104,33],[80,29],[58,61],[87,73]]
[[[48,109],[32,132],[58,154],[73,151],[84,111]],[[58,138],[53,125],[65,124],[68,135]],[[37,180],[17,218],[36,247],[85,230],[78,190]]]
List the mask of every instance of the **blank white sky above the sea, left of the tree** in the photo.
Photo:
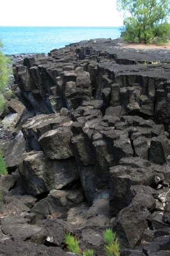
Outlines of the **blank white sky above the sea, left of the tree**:
[[0,26],[122,26],[116,0],[4,0]]

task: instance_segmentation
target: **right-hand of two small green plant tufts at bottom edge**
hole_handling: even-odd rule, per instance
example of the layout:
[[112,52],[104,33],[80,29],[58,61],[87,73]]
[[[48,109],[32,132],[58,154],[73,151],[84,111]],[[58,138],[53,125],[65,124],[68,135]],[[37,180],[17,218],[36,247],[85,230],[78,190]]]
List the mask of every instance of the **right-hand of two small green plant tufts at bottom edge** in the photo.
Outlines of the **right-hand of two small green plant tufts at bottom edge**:
[[120,255],[120,244],[118,243],[118,238],[116,238],[116,233],[108,228],[104,230],[103,238],[106,244],[104,248],[106,250],[107,256],[119,256]]

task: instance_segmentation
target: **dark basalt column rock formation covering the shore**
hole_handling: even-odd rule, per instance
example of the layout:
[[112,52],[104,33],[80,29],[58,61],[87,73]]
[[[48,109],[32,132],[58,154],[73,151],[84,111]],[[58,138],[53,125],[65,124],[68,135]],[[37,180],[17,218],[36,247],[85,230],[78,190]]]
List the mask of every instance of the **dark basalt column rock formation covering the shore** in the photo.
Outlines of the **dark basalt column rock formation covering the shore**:
[[69,255],[71,232],[104,256],[106,228],[121,256],[169,255],[169,63],[167,49],[111,39],[13,62],[0,255]]

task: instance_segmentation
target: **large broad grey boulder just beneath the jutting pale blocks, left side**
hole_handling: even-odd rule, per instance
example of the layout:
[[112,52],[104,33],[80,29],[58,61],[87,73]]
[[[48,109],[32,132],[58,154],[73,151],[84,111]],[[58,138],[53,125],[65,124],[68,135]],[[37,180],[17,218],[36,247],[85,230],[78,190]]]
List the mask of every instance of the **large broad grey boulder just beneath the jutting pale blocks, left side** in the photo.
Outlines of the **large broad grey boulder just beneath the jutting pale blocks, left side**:
[[60,189],[80,177],[74,158],[51,160],[43,152],[25,154],[18,170],[25,192],[34,196]]

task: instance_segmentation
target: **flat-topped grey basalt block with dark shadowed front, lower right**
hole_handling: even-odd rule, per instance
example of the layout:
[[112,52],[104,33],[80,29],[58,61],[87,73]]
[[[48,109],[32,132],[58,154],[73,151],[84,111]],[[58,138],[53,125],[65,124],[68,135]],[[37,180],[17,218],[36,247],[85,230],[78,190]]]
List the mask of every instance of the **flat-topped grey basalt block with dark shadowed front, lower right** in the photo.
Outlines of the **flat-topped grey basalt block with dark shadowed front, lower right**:
[[110,168],[111,192],[110,211],[113,215],[132,202],[136,193],[132,193],[131,186],[151,186],[155,183],[155,172],[149,161],[138,157],[124,157],[118,166]]

